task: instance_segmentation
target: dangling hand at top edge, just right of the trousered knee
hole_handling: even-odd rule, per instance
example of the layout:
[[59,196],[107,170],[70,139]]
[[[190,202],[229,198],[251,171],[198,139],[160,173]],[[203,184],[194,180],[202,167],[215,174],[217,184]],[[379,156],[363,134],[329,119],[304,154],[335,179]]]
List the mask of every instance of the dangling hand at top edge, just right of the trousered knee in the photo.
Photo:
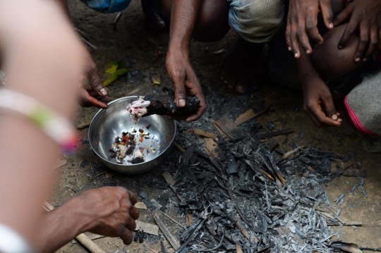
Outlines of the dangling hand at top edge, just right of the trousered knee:
[[317,30],[317,14],[322,11],[325,26],[334,27],[331,0],[290,0],[286,26],[286,44],[289,51],[294,52],[295,58],[301,56],[300,47],[306,54],[312,54],[308,37],[317,43],[323,38]]

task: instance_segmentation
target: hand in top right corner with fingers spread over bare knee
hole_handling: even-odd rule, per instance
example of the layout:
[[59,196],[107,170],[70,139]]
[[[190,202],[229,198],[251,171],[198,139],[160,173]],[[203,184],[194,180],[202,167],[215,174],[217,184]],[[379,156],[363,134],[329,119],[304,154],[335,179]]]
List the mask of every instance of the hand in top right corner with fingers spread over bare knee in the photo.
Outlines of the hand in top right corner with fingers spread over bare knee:
[[370,56],[381,49],[381,1],[356,0],[346,6],[334,20],[334,26],[348,20],[346,29],[339,41],[338,48],[343,49],[353,33],[360,31],[354,61],[367,61]]

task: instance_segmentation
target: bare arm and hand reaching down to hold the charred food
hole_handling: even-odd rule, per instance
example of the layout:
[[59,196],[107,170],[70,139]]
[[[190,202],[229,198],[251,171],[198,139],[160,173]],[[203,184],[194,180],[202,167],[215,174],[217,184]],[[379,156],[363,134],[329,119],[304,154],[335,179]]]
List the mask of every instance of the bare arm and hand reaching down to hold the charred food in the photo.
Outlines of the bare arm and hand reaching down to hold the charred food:
[[189,58],[189,46],[193,28],[202,3],[202,0],[176,0],[172,1],[171,8],[171,27],[166,65],[169,76],[174,82],[176,104],[179,107],[185,106],[187,95],[198,97],[201,100],[198,111],[187,118],[187,121],[195,121],[200,118],[207,107],[200,82]]

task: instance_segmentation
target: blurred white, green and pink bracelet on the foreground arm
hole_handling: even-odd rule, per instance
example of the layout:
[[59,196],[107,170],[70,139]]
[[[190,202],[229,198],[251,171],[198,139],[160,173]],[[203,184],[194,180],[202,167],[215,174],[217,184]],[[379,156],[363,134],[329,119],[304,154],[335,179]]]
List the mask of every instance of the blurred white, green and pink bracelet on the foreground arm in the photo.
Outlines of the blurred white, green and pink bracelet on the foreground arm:
[[57,142],[62,152],[70,153],[78,147],[78,135],[73,125],[32,97],[1,88],[0,111],[26,116],[37,128]]

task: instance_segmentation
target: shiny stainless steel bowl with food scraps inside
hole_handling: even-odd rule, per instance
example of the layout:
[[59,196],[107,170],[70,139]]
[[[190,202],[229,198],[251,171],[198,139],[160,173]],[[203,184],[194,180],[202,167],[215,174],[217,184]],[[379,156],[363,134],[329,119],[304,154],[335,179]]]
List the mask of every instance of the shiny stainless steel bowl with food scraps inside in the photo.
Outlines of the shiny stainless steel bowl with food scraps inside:
[[[126,174],[145,173],[159,166],[167,158],[176,134],[176,123],[165,116],[147,116],[135,124],[126,107],[137,98],[137,96],[122,97],[111,101],[109,109],[101,109],[95,114],[89,128],[90,146],[102,163],[111,170]],[[147,125],[150,125],[149,129]],[[128,161],[128,157],[123,163],[116,163],[116,159],[113,159],[109,152],[115,137],[121,136],[122,132],[131,132],[133,129],[138,131],[140,128],[149,132],[150,138],[144,139],[137,147],[147,147],[150,154],[144,152],[143,163],[132,164]]]

